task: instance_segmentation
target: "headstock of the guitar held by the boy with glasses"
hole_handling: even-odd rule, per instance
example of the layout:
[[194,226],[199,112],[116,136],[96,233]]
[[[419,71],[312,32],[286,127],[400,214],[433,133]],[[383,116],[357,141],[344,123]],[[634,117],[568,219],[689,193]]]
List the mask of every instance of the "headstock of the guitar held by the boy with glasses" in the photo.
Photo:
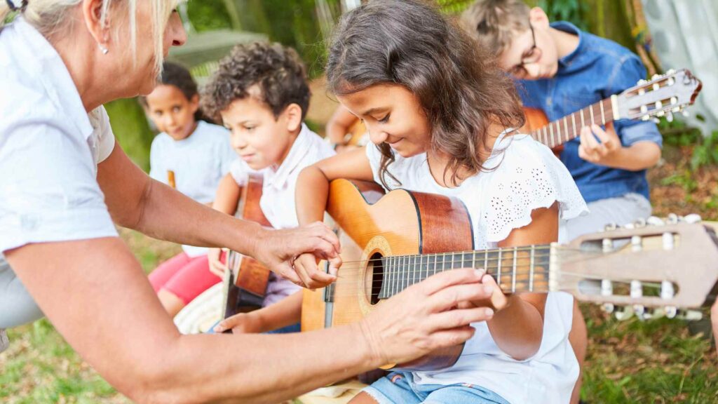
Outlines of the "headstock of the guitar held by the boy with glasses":
[[674,113],[684,111],[696,101],[701,87],[701,81],[687,69],[654,75],[651,81],[641,80],[616,96],[614,107],[618,116],[614,113],[614,119],[648,121],[654,116],[666,116],[670,121]]

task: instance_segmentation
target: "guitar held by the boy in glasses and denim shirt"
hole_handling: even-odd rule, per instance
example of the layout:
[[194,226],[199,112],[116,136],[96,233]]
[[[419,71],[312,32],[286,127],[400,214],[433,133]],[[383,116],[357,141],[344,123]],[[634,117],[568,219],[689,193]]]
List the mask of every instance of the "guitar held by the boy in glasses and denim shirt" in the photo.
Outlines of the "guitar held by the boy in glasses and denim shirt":
[[549,122],[544,111],[524,108],[526,124],[531,137],[556,151],[556,147],[579,137],[581,128],[587,125],[605,125],[618,119],[642,119],[666,116],[683,111],[696,101],[701,91],[701,81],[689,70],[668,70],[665,75],[655,75],[651,81],[639,81],[637,86],[623,93],[591,104],[584,109]]

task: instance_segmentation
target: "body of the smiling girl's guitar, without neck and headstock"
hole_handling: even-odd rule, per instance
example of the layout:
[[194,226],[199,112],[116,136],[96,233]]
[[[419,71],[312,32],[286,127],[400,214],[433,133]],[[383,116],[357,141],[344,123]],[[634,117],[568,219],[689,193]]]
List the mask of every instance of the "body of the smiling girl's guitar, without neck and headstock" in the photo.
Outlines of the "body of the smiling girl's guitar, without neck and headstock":
[[[458,199],[408,190],[382,196],[376,184],[332,181],[327,212],[340,228],[345,264],[334,285],[304,292],[302,331],[353,323],[383,304],[377,298],[381,264],[370,260],[473,249],[470,216]],[[462,349],[463,344],[453,346],[398,366],[442,369],[452,366]]]

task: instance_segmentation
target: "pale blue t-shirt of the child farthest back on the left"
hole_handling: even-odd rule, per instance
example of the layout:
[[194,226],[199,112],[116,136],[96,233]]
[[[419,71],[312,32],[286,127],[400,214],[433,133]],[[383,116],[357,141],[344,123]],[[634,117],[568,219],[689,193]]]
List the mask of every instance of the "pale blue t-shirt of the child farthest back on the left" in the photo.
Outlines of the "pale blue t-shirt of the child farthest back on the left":
[[[149,176],[168,183],[167,171],[174,173],[174,183],[181,193],[200,203],[215,200],[220,180],[229,172],[237,155],[224,127],[197,122],[195,132],[182,140],[174,140],[164,132],[152,141],[149,153]],[[208,249],[183,245],[190,257],[207,254]]]

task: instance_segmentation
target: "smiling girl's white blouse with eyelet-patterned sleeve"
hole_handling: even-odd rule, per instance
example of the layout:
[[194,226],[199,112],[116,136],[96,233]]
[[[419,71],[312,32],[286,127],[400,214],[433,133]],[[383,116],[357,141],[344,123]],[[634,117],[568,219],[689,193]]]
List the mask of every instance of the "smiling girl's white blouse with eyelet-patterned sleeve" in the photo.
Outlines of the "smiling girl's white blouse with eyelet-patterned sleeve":
[[[367,147],[374,179],[381,183],[381,153]],[[426,154],[396,160],[388,170],[401,182],[386,176],[390,188],[405,188],[459,198],[467,207],[474,231],[475,249],[494,248],[510,231],[531,223],[531,211],[559,202],[560,227],[587,211],[568,170],[549,148],[517,134],[497,139],[485,163],[488,170],[464,180],[456,188],[439,185],[429,171]],[[511,403],[568,403],[579,367],[568,341],[573,298],[549,293],[544,338],[533,358],[511,359],[495,344],[486,323],[474,323],[475,335],[467,341],[453,367],[439,372],[414,372],[421,384],[470,383],[493,390]]]

